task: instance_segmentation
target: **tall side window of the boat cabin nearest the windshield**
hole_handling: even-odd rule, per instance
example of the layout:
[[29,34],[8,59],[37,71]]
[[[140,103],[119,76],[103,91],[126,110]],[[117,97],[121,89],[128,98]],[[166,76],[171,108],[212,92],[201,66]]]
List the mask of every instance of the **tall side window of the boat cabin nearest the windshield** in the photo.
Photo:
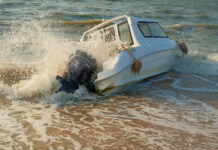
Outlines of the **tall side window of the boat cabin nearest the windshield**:
[[127,42],[127,44],[129,45],[133,44],[132,36],[131,36],[127,21],[124,21],[118,24],[118,31],[119,31],[119,36],[120,36],[121,41]]

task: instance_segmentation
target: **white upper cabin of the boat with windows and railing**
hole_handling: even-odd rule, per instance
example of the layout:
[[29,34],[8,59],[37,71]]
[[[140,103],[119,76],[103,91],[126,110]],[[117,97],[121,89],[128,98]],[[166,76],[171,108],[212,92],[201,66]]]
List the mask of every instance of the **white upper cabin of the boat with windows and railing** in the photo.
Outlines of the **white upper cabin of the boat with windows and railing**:
[[156,20],[124,15],[105,21],[86,31],[81,41],[113,42],[120,40],[134,47],[143,45],[145,38],[167,38],[167,35]]

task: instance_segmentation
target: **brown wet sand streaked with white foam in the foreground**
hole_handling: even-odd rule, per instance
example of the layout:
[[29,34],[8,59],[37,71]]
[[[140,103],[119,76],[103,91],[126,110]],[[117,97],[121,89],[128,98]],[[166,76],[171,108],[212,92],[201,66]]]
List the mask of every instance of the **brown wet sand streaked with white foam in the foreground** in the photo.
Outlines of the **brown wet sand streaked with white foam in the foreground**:
[[64,107],[8,99],[0,102],[4,120],[0,127],[0,148],[3,149],[214,150],[218,147],[217,109],[208,110],[204,105],[185,106],[118,95]]

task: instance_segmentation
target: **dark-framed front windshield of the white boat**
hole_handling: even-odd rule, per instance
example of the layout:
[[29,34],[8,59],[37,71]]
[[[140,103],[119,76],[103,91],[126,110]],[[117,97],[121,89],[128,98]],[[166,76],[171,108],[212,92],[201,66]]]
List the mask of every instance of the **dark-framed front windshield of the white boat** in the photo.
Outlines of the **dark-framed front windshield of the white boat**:
[[157,22],[138,22],[138,27],[144,37],[167,37]]

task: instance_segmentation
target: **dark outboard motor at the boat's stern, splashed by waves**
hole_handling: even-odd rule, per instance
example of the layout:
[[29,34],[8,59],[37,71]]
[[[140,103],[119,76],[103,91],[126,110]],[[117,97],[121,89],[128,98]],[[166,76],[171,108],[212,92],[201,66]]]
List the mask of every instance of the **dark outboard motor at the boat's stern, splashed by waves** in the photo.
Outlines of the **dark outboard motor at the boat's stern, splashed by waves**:
[[79,85],[84,85],[90,92],[96,92],[93,83],[97,77],[96,70],[96,60],[87,52],[77,50],[69,57],[66,74],[63,77],[56,76],[61,83],[61,87],[56,92],[73,93]]

